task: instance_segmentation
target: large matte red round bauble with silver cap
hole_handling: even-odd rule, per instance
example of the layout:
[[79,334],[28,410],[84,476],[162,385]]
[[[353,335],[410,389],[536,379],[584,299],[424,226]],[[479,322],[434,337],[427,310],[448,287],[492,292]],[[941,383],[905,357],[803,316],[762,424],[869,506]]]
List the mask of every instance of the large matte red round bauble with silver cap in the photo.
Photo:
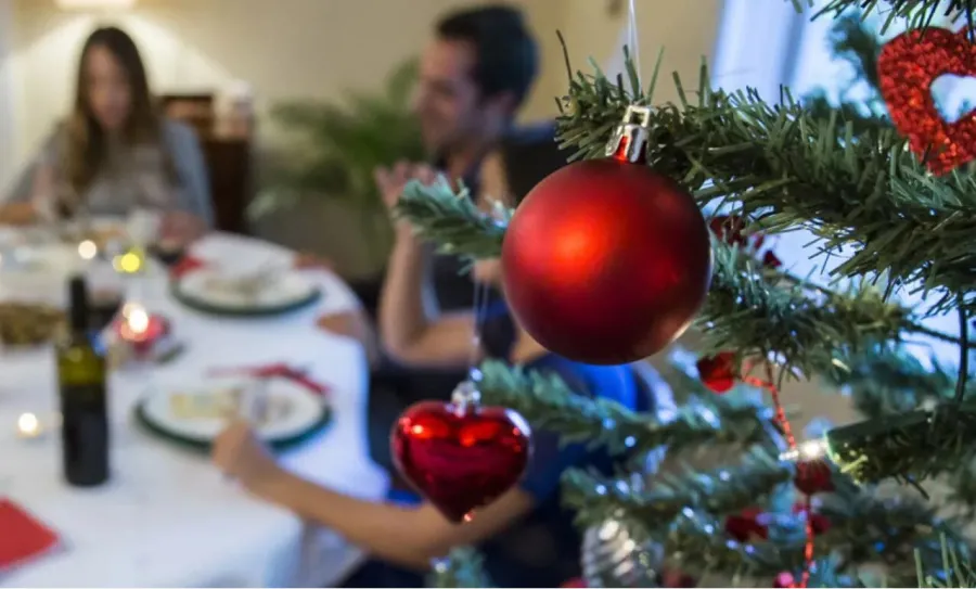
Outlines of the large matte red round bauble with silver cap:
[[613,157],[550,175],[505,232],[505,300],[532,337],[573,360],[621,364],[659,351],[708,291],[711,243],[697,204],[639,162],[648,116],[628,108]]

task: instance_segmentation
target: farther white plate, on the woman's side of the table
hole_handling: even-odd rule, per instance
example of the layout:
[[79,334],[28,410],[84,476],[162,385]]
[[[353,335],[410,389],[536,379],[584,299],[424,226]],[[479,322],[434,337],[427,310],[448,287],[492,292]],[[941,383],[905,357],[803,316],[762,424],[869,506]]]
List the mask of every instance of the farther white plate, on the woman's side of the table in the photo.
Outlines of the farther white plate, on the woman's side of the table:
[[254,295],[228,287],[233,276],[202,268],[184,274],[176,287],[179,294],[209,307],[233,310],[277,309],[298,305],[316,294],[316,286],[307,278],[293,271],[283,271]]

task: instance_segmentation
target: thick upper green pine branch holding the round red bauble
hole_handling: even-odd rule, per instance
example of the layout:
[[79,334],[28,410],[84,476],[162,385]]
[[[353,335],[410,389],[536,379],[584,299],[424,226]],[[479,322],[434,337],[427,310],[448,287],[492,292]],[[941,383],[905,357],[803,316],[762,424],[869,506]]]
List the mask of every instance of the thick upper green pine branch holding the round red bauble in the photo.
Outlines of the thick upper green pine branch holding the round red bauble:
[[[628,61],[632,69],[632,62]],[[732,204],[767,232],[806,228],[823,252],[852,247],[838,277],[888,276],[892,284],[940,287],[936,311],[962,297],[976,307],[976,176],[935,178],[890,129],[837,132],[836,113],[814,117],[784,92],[769,105],[748,90],[708,88],[703,66],[696,99],[679,86],[677,104],[651,119],[647,163],[675,178],[703,203]],[[562,143],[578,157],[601,157],[602,146],[629,104],[650,104],[624,77],[577,74],[558,119]],[[933,260],[939,260],[936,264]]]

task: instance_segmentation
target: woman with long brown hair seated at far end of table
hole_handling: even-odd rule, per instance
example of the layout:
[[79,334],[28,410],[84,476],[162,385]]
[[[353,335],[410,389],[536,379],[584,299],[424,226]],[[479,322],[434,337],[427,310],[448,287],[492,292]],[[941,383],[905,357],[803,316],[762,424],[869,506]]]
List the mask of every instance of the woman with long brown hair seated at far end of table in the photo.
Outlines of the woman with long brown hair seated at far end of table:
[[103,27],[81,49],[72,113],[0,210],[0,221],[150,208],[162,213],[164,236],[185,243],[209,227],[208,184],[196,136],[159,113],[132,38]]

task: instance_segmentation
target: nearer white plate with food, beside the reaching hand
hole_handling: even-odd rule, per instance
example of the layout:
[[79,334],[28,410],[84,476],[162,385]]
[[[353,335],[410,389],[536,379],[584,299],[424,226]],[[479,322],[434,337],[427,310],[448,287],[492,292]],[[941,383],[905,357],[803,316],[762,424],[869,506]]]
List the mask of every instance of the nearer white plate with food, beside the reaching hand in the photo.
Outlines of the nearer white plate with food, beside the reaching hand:
[[[217,399],[227,399],[229,390],[241,392],[247,398],[256,386],[260,385],[253,379],[206,379],[165,384],[145,397],[142,415],[155,427],[176,437],[208,443],[227,427],[228,417],[209,411],[188,414],[187,402],[193,402],[194,407],[213,407]],[[266,379],[265,386],[268,420],[255,425],[255,433],[261,439],[278,441],[300,436],[322,421],[326,407],[320,395],[286,379]]]

